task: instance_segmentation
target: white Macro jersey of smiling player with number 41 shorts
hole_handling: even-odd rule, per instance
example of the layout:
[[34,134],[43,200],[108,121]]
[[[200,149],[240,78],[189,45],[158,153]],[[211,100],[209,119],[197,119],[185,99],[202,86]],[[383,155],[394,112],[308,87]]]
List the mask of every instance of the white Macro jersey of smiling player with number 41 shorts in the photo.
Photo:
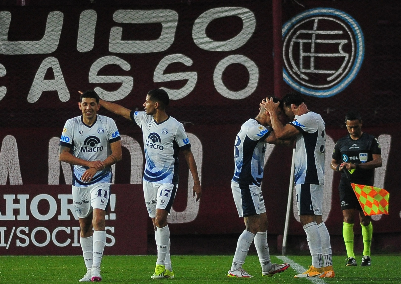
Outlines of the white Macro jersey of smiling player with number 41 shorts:
[[[73,149],[73,155],[85,161],[104,161],[110,154],[110,143],[121,140],[115,122],[110,117],[97,115],[95,123],[86,125],[82,115],[67,120],[59,145]],[[93,183],[111,183],[111,167],[98,171],[91,181],[81,181],[88,167],[74,165],[73,182],[75,186],[88,186]]]

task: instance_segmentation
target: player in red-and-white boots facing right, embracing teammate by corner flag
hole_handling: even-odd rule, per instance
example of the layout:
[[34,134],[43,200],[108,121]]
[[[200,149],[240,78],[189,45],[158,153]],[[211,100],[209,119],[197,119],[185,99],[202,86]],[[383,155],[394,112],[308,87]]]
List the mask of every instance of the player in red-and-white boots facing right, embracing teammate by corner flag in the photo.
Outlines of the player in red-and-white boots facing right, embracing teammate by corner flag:
[[[279,103],[278,99],[274,98],[274,101]],[[278,108],[277,115],[281,112],[282,109]],[[268,222],[261,189],[265,143],[290,145],[291,141],[275,138],[271,131],[269,113],[260,106],[257,117],[248,119],[241,126],[234,144],[235,171],[231,190],[238,215],[244,218],[245,230],[238,238],[233,263],[227,272],[229,277],[253,277],[242,268],[253,241],[262,267],[262,276],[272,276],[290,267],[290,264],[272,264],[270,261]]]

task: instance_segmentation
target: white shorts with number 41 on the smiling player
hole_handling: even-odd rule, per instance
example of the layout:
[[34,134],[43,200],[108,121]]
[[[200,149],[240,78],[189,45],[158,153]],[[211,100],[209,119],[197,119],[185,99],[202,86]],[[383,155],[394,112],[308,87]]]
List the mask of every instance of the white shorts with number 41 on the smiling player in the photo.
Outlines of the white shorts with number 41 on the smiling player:
[[95,183],[85,187],[72,185],[72,191],[78,218],[88,217],[93,209],[106,210],[110,198],[110,183]]

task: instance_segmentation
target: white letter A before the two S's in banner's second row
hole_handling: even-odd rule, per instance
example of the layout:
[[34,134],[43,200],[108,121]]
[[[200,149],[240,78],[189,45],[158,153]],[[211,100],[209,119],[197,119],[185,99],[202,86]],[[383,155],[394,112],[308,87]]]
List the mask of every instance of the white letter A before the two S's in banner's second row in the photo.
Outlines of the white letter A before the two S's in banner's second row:
[[[54,79],[45,80],[45,75],[49,68],[52,68],[53,70]],[[70,99],[70,93],[67,85],[65,85],[59,60],[52,56],[45,58],[41,66],[39,66],[35,75],[35,79],[33,80],[32,86],[30,87],[28,93],[28,102],[36,102],[44,91],[57,91],[59,94],[59,99],[62,102],[66,102]]]

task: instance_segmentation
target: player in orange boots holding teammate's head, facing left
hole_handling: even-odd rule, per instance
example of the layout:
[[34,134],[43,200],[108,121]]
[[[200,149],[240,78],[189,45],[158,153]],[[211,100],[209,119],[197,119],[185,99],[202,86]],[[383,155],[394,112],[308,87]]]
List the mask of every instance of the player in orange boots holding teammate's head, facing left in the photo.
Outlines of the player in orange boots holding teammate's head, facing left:
[[295,278],[333,278],[330,235],[322,220],[324,152],[326,130],[320,115],[309,111],[298,93],[289,93],[283,99],[284,112],[292,120],[286,125],[279,121],[279,105],[272,100],[262,102],[271,116],[271,125],[279,139],[296,137],[295,189],[298,215],[306,232],[312,266]]

